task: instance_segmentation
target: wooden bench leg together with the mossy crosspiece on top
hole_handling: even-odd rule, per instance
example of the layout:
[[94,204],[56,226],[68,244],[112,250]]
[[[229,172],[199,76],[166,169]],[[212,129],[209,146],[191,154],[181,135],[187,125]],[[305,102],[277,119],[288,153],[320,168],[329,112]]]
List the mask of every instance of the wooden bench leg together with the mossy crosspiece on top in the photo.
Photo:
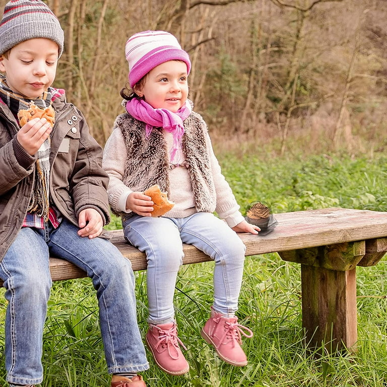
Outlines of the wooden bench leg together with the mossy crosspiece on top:
[[309,347],[356,348],[356,264],[365,241],[279,252],[301,264],[302,326]]

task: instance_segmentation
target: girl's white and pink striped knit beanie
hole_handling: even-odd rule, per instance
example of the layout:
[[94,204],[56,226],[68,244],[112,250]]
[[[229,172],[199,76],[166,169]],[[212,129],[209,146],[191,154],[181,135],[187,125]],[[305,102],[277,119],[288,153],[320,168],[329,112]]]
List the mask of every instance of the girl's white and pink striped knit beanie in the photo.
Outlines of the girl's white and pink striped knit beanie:
[[144,31],[131,36],[125,45],[129,63],[129,83],[133,88],[145,75],[168,60],[182,60],[191,69],[189,55],[177,39],[165,31]]

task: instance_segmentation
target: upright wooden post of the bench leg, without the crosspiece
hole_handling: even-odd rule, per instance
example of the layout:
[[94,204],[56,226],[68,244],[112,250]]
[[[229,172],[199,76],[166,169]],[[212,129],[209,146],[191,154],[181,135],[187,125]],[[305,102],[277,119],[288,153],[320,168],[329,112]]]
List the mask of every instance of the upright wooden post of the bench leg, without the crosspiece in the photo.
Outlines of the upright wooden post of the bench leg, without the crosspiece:
[[356,268],[336,271],[301,265],[302,325],[307,344],[329,353],[355,348]]

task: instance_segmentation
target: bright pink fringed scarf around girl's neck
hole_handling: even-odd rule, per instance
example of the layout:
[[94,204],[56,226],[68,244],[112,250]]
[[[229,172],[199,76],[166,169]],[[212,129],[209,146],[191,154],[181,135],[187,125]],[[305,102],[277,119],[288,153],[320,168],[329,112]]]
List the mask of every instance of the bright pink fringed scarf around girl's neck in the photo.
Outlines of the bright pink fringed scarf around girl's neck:
[[191,105],[188,100],[177,110],[176,113],[168,109],[154,109],[143,99],[132,98],[126,102],[126,111],[139,121],[146,123],[145,137],[148,138],[153,127],[162,127],[173,136],[173,147],[171,149],[171,161],[176,152],[181,149],[181,138],[184,134],[183,121],[191,113]]

